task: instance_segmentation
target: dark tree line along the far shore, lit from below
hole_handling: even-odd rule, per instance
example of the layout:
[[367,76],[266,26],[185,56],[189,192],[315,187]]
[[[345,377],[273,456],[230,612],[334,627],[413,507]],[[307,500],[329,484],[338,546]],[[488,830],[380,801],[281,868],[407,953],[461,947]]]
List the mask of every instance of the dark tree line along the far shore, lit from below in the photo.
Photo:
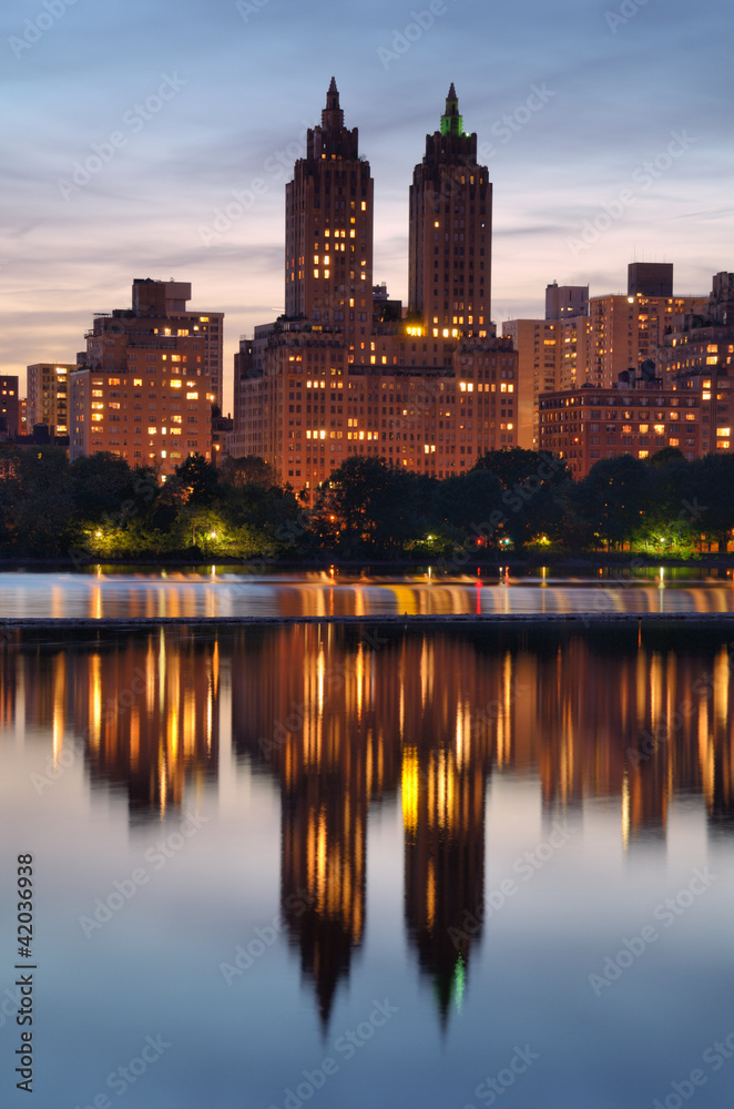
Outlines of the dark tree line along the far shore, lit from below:
[[457,550],[695,557],[734,529],[734,456],[666,448],[565,462],[519,447],[437,479],[355,455],[310,497],[259,458],[190,456],[167,480],[115,455],[0,450],[0,556],[90,559],[333,556],[430,560]]

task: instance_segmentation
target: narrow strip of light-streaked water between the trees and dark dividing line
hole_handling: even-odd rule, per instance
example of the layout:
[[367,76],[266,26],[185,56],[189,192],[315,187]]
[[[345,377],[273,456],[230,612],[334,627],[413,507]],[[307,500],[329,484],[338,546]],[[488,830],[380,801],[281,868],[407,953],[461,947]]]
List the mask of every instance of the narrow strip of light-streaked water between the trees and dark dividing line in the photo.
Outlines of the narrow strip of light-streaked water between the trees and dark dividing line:
[[[60,584],[61,581],[61,584]],[[160,571],[157,574],[0,573],[0,613],[19,619],[105,617],[192,619],[238,617],[502,615],[544,613],[734,612],[728,578],[692,582],[682,570],[646,576],[560,578],[547,570],[512,577],[509,567],[451,574],[375,577],[333,570],[303,573]]]

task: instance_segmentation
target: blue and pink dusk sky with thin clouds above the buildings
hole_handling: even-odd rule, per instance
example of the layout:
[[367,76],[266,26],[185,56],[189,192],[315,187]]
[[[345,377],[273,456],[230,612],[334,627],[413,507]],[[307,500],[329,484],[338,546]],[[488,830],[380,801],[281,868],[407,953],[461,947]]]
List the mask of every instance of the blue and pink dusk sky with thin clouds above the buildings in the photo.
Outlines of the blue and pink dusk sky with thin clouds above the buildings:
[[[230,408],[238,336],[284,307],[284,186],[332,75],[371,164],[374,277],[394,297],[412,167],[451,81],[495,186],[498,327],[542,316],[553,279],[625,292],[633,260],[673,262],[676,293],[734,268],[722,0],[9,0],[0,18],[0,373],[73,362],[133,278],[174,277],[192,307],[226,313]],[[215,226],[253,181],[247,211]]]

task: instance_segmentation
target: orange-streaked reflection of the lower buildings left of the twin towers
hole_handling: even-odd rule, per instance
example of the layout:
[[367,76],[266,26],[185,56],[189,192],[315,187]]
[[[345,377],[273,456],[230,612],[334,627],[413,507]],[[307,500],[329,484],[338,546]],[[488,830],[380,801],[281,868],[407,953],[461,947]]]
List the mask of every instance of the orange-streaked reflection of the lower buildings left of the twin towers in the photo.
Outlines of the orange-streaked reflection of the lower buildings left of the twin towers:
[[159,629],[90,643],[20,639],[0,653],[3,722],[50,732],[50,773],[83,746],[92,786],[124,790],[131,816],[163,818],[218,767],[220,644]]

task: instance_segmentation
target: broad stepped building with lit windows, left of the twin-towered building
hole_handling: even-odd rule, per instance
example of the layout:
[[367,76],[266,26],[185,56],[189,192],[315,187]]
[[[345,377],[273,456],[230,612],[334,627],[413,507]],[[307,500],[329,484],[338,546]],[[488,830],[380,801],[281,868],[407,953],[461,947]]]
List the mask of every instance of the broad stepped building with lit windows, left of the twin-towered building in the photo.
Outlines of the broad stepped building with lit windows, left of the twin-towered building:
[[70,375],[72,461],[112,451],[165,476],[190,454],[211,458],[216,344],[202,321],[221,335],[223,317],[184,312],[190,296],[185,282],[136,281],[132,309],[95,316]]

